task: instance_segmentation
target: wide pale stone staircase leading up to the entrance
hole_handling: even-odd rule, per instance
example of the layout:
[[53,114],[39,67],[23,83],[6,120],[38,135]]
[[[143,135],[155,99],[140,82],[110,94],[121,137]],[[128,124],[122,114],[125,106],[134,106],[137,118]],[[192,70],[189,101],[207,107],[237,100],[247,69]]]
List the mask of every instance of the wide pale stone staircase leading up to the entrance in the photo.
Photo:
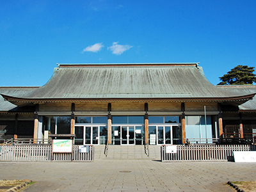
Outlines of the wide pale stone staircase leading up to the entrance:
[[161,146],[149,145],[149,156],[144,145],[109,145],[108,156],[104,154],[105,145],[94,145],[94,159],[156,159],[161,160]]

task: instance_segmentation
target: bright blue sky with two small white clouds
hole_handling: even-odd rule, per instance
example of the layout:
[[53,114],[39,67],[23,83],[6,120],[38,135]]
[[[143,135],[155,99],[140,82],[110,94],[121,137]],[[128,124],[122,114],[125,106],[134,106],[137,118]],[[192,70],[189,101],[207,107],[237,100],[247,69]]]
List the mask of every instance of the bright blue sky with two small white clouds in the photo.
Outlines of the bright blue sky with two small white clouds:
[[212,84],[255,67],[256,1],[0,1],[0,86],[42,86],[56,63],[200,62]]

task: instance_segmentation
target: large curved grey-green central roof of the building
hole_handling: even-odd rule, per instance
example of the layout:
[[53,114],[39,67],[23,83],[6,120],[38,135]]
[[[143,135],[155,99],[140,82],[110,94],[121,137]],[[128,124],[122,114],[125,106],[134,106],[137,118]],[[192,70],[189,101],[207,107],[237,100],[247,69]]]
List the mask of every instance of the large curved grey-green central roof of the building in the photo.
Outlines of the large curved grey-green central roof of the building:
[[44,86],[22,97],[3,96],[42,100],[248,99],[253,95],[214,86],[198,63],[132,63],[59,64]]

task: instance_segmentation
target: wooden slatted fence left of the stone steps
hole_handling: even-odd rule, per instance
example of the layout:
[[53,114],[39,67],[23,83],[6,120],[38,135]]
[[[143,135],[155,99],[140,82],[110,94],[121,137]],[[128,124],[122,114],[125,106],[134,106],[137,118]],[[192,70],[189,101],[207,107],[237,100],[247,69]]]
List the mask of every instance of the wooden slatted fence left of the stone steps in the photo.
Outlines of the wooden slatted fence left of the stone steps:
[[0,161],[94,161],[94,147],[90,145],[88,153],[81,153],[74,145],[73,153],[52,154],[52,145],[2,145]]

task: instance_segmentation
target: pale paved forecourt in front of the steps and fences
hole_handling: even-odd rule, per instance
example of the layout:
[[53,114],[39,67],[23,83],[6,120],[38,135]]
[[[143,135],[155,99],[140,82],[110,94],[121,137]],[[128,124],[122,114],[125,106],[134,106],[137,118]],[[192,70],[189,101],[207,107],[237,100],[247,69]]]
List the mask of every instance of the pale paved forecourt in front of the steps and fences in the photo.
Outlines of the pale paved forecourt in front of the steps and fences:
[[256,163],[161,163],[100,159],[93,163],[0,162],[0,179],[31,179],[30,191],[233,191],[228,180],[256,180]]

